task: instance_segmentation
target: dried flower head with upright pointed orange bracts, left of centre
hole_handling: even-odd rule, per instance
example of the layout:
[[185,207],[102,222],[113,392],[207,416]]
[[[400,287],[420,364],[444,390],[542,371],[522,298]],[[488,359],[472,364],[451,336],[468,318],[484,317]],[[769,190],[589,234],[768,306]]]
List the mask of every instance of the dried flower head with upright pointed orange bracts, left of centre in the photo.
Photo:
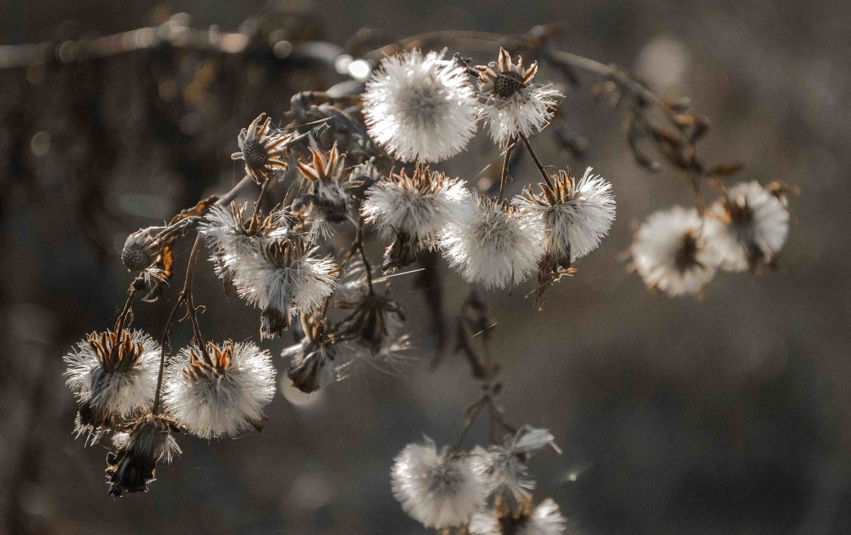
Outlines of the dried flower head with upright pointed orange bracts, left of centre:
[[315,149],[311,153],[311,162],[298,162],[299,171],[309,184],[308,191],[297,196],[290,209],[328,236],[330,225],[342,223],[348,217],[348,190],[357,183],[347,180],[349,175],[343,176],[346,155],[340,154],[336,143],[327,157]]

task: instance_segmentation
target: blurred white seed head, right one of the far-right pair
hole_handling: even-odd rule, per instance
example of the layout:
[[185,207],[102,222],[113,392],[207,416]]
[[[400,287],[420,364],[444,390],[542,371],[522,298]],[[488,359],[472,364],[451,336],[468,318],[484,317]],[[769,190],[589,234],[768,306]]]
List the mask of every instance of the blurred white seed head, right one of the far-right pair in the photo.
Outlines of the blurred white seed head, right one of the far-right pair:
[[725,270],[757,272],[772,265],[789,234],[789,211],[758,182],[729,188],[710,214],[722,222],[715,228]]

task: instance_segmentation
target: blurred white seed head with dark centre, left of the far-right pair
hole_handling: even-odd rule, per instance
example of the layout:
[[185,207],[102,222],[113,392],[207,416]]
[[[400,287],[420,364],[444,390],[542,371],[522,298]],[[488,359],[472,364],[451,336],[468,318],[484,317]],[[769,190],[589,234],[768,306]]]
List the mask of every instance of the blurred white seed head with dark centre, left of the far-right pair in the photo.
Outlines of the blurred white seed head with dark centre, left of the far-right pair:
[[694,208],[651,213],[632,243],[632,264],[648,287],[668,295],[696,294],[715,276],[721,254],[713,235],[717,222]]

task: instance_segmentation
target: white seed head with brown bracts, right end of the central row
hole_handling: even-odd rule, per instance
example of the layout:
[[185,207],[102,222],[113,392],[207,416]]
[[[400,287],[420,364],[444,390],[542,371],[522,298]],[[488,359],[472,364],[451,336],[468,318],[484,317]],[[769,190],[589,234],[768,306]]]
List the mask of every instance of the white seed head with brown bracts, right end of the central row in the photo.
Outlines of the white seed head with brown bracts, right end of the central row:
[[541,185],[537,194],[528,187],[515,202],[523,212],[544,223],[546,253],[572,264],[596,249],[612,227],[612,185],[591,174],[591,168],[585,169],[579,181],[560,171],[553,175],[552,185]]

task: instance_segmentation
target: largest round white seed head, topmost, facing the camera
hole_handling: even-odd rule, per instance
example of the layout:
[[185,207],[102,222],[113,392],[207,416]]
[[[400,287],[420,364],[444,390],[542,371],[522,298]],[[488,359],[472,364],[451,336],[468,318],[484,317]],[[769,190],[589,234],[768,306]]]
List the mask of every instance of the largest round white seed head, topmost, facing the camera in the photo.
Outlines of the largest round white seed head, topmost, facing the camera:
[[476,133],[476,97],[467,69],[420,50],[381,61],[366,84],[369,134],[403,162],[439,162]]

